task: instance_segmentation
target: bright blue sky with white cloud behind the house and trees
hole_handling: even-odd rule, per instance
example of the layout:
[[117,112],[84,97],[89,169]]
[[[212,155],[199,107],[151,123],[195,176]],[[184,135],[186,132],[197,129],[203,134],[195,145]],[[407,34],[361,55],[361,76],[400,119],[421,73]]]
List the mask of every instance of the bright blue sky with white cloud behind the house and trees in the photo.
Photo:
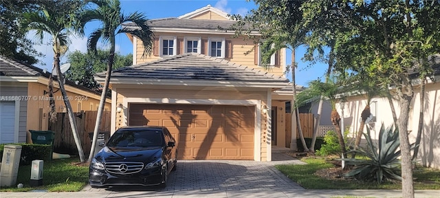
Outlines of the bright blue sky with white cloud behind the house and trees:
[[[142,12],[148,19],[159,19],[166,17],[179,17],[188,12],[192,12],[199,8],[203,8],[206,5],[211,5],[215,8],[219,8],[224,12],[229,14],[241,14],[245,15],[253,8],[256,8],[254,1],[245,0],[217,0],[217,1],[204,1],[204,0],[192,0],[192,1],[177,1],[177,0],[120,0],[121,8],[124,14],[129,14],[133,12]],[[71,36],[72,43],[69,45],[69,52],[74,52],[79,50],[81,52],[87,52],[87,36],[90,32],[95,30],[99,23],[91,23],[85,28],[85,37]],[[34,32],[28,34],[28,38],[34,39]],[[36,40],[33,40],[36,41]],[[50,36],[45,36],[45,41],[43,43],[50,43]],[[101,48],[105,48],[106,44],[101,43]],[[42,69],[52,70],[53,52],[52,46],[50,45],[34,45],[35,49],[39,52],[45,54],[44,58],[39,58],[41,63],[37,63],[37,67]],[[131,54],[133,53],[133,44],[125,36],[125,34],[120,34],[116,37],[116,51],[120,54]],[[303,47],[298,47],[296,49],[296,62],[298,63],[298,69],[296,70],[296,84],[303,85],[307,87],[311,80],[316,80],[325,75],[325,69],[327,66],[325,64],[317,64],[309,66],[309,63],[304,63],[300,60],[305,53]],[[292,63],[291,51],[287,52],[287,63]],[[61,63],[66,63],[67,56],[61,57]],[[287,78],[292,80],[292,73],[287,74]]]

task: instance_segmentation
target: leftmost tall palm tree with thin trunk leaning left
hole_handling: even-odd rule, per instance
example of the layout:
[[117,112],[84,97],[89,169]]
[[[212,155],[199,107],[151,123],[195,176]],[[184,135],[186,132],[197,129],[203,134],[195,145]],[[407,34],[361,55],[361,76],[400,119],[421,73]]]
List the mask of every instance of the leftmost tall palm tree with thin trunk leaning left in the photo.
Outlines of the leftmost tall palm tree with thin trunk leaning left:
[[[60,69],[60,56],[67,51],[67,47],[70,43],[69,35],[75,31],[75,16],[76,13],[80,11],[80,8],[82,8],[82,5],[80,1],[53,1],[47,3],[47,5],[45,3],[41,5],[39,12],[25,13],[25,27],[28,28],[28,30],[35,30],[36,37],[41,43],[43,43],[45,33],[52,36],[52,50],[54,50],[53,67],[56,71],[58,85],[63,98],[68,97],[64,87],[64,76]],[[64,103],[80,161],[85,162],[85,155],[79,139],[72,105],[68,99],[65,99]]]

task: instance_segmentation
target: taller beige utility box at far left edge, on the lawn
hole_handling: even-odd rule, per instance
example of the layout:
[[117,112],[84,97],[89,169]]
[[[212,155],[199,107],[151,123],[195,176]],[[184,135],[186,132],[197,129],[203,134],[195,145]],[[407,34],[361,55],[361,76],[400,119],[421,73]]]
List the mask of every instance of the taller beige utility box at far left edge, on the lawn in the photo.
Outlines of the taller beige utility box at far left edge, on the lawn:
[[6,144],[3,149],[0,170],[0,186],[15,186],[19,173],[21,146]]

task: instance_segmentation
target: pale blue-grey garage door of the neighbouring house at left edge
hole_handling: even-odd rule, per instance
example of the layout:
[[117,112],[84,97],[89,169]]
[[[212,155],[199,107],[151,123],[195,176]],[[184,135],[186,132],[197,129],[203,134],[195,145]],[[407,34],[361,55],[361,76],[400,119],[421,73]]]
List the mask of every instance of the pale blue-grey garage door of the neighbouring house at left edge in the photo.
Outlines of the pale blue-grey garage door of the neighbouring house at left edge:
[[15,102],[0,102],[0,144],[13,143],[15,131]]

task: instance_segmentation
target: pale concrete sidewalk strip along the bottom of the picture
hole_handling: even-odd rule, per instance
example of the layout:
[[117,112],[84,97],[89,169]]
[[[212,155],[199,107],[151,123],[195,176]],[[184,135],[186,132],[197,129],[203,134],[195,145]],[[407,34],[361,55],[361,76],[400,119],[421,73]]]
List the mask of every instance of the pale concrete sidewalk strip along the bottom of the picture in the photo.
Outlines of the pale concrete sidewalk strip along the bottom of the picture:
[[[260,190],[85,190],[80,192],[0,192],[6,197],[401,197],[401,190],[288,190],[275,192],[271,189]],[[440,190],[416,190],[415,197],[437,198]]]

